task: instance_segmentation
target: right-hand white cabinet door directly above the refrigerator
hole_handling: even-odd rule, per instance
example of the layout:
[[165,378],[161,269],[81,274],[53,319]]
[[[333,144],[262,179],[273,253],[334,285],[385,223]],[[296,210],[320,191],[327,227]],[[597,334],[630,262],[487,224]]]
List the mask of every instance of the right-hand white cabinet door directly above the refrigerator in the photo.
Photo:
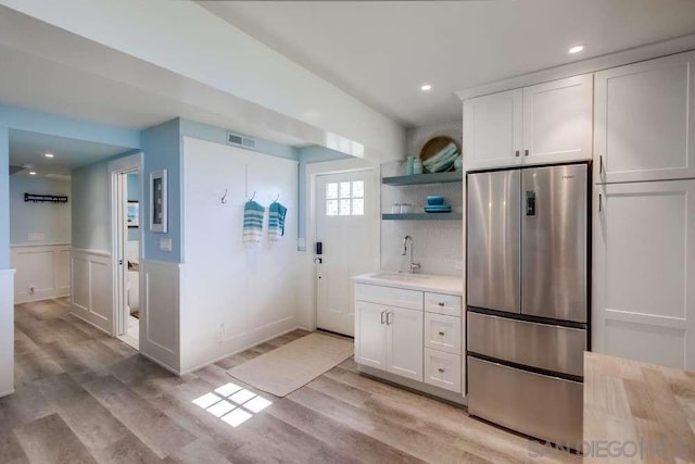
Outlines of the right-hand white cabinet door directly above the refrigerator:
[[590,160],[591,74],[523,89],[523,162]]

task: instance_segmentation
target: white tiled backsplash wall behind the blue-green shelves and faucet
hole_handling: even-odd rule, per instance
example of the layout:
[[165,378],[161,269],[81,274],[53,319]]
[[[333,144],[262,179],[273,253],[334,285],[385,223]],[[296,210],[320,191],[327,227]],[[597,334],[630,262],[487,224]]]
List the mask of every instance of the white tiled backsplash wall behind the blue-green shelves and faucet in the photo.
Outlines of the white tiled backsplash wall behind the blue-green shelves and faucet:
[[[462,122],[415,127],[407,131],[407,155],[418,156],[420,149],[435,136],[450,136],[462,143]],[[405,162],[381,165],[381,176],[405,174]],[[410,203],[413,212],[422,212],[428,195],[442,195],[454,212],[464,211],[460,183],[431,184],[422,186],[381,186],[381,211],[391,212],[393,203]],[[413,259],[422,265],[420,272],[460,276],[456,265],[464,256],[463,221],[382,221],[381,268],[407,271],[407,258],[401,255],[403,237],[410,235],[414,242]]]

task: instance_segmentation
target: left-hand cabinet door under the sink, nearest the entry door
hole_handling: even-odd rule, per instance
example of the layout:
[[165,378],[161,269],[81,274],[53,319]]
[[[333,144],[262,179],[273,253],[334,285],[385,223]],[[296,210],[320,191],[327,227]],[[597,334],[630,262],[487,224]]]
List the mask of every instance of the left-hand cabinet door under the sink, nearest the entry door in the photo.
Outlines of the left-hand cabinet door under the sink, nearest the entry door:
[[355,362],[387,369],[387,312],[382,304],[355,302]]

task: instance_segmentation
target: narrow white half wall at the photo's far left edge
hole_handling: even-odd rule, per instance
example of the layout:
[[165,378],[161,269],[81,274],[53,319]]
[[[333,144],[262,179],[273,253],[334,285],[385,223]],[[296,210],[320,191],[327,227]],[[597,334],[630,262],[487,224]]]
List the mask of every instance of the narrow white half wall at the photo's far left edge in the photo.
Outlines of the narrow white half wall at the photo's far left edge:
[[0,269],[0,397],[14,392],[14,269]]

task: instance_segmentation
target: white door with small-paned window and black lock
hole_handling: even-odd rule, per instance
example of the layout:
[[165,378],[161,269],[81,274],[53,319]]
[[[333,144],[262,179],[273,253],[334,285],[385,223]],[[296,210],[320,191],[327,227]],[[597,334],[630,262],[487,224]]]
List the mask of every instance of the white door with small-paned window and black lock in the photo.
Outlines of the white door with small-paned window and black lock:
[[[320,175],[316,178],[316,325],[354,336],[351,277],[374,271],[378,239],[374,208],[374,171]],[[320,261],[320,262],[319,262]]]

